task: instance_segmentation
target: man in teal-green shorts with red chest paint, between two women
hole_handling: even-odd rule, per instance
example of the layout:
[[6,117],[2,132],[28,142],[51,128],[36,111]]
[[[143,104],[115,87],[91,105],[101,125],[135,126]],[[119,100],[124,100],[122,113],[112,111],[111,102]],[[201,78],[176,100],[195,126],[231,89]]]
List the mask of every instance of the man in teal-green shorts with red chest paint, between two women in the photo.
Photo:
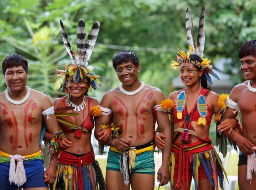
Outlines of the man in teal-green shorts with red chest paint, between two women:
[[[159,185],[167,184],[170,178],[168,168],[171,131],[168,115],[167,112],[153,109],[165,99],[164,94],[160,89],[140,81],[138,72],[141,66],[134,52],[124,50],[116,54],[113,58],[113,67],[122,84],[106,92],[100,106],[112,114],[99,116],[95,124],[96,139],[110,146],[106,167],[106,188],[129,190],[131,185],[133,190],[153,190],[155,119],[160,130],[166,134],[165,147],[162,149],[162,165],[157,173]],[[121,129],[118,139],[109,139],[109,135],[106,136],[104,133],[105,129],[101,131],[101,123],[108,125],[110,121],[116,122],[116,126]],[[135,164],[132,162],[134,157]]]

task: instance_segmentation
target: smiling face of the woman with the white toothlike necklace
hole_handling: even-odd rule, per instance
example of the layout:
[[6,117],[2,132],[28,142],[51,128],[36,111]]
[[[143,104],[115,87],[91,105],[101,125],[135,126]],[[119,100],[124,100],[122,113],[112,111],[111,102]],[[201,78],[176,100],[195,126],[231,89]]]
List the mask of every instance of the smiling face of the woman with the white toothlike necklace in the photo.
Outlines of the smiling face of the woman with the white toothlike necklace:
[[78,83],[73,80],[68,81],[68,92],[74,98],[83,96],[89,88],[89,83],[87,78],[80,79]]

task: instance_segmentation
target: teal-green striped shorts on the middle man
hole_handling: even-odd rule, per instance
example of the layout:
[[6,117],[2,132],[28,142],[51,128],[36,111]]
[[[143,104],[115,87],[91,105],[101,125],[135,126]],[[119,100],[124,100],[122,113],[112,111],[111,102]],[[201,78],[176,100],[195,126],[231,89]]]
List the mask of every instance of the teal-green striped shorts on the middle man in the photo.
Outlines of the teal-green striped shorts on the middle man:
[[[109,150],[106,169],[121,172],[120,157],[121,153]],[[154,152],[146,151],[136,155],[135,167],[132,169],[132,173],[155,174]]]

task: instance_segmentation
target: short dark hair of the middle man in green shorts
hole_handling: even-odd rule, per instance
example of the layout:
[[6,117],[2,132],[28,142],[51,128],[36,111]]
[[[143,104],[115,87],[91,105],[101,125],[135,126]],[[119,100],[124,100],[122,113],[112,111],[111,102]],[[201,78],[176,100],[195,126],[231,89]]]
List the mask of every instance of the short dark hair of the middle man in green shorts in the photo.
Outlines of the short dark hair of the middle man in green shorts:
[[138,56],[137,56],[134,52],[128,51],[128,50],[122,50],[122,51],[118,52],[118,53],[114,56],[114,58],[113,58],[113,60],[112,60],[112,62],[113,62],[113,67],[114,67],[115,71],[116,71],[116,67],[117,67],[119,64],[121,64],[121,63],[123,63],[123,62],[127,63],[127,62],[129,62],[129,61],[132,61],[133,64],[134,64],[136,67],[140,65],[139,58],[138,58]]

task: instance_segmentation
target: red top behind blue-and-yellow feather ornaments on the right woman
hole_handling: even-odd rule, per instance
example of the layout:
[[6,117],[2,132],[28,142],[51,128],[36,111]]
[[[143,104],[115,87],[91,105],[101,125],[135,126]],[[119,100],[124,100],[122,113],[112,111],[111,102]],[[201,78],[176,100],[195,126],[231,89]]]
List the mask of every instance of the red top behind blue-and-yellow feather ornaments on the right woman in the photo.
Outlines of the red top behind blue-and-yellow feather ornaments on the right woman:
[[[202,94],[203,96],[205,96],[205,100],[206,100],[206,98],[207,98],[207,95],[210,94],[210,92],[211,92],[211,91],[209,91],[209,90],[207,90],[207,89],[204,89],[204,88],[201,89],[201,94]],[[179,93],[180,93],[180,92],[179,92]],[[182,113],[182,118],[181,118],[181,119],[178,119],[178,118],[177,118],[177,115],[176,115],[176,113],[177,113],[176,102],[177,102],[177,100],[175,101],[175,107],[173,108],[173,119],[174,119],[173,123],[174,123],[174,124],[175,124],[175,123],[179,123],[179,122],[183,122],[183,121],[184,121],[184,118],[185,118],[185,116],[184,116],[184,115],[185,115],[185,114],[184,114],[184,111],[183,111],[183,113]],[[186,105],[186,104],[185,104],[185,106],[184,106],[184,109],[186,109],[186,112],[187,112],[187,105]],[[210,124],[211,124],[211,118],[212,118],[212,116],[213,116],[213,113],[211,112],[211,109],[209,108],[209,105],[208,105],[208,104],[206,104],[206,110],[207,110],[207,114],[206,114],[206,123],[207,123],[207,124],[206,124],[206,125],[210,126]],[[196,101],[194,107],[191,109],[190,113],[191,113],[191,112],[192,112],[192,114],[191,114],[191,121],[197,122],[198,118],[200,118],[200,114],[199,114],[198,109],[197,109],[197,101]],[[188,115],[190,115],[190,113],[188,113]]]

